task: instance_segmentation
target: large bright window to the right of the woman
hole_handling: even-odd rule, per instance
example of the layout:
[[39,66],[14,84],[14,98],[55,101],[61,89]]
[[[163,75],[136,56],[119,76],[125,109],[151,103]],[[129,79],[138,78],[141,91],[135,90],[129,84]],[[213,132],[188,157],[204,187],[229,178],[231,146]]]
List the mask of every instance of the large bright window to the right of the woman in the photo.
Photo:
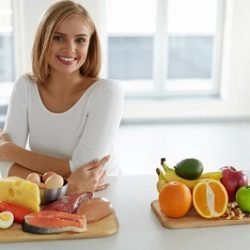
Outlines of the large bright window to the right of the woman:
[[223,0],[106,0],[107,76],[128,96],[218,95]]

